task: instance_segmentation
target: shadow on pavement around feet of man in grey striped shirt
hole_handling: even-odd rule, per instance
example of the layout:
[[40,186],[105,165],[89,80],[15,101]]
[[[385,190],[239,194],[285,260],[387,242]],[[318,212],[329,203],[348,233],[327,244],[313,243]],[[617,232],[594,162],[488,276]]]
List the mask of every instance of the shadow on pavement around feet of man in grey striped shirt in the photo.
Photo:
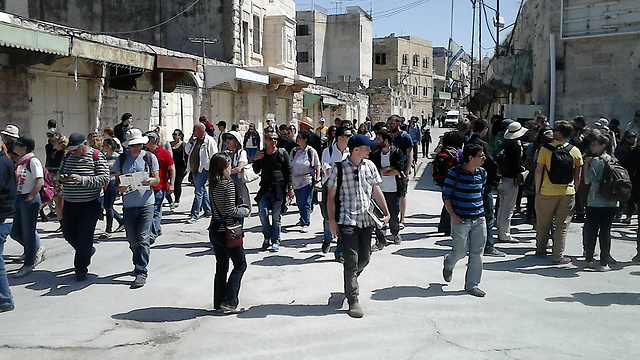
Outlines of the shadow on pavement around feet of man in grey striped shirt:
[[35,269],[31,274],[15,279],[9,277],[11,286],[26,285],[27,289],[35,291],[49,290],[41,296],[65,296],[78,290],[85,289],[91,285],[125,285],[130,286],[131,281],[119,280],[118,278],[128,276],[129,272],[107,275],[99,277],[95,274],[87,274],[87,280],[76,281],[75,272],[72,268],[60,271]]

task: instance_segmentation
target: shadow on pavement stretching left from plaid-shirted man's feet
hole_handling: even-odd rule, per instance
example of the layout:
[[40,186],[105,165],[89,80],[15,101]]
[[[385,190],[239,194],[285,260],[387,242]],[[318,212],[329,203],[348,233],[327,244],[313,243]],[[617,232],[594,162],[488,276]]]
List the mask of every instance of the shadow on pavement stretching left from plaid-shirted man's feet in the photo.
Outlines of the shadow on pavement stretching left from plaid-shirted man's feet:
[[344,302],[343,293],[331,293],[327,305],[304,305],[304,304],[265,304],[252,306],[247,311],[238,314],[239,318],[256,319],[266,318],[269,315],[276,316],[327,316],[345,314],[342,309]]

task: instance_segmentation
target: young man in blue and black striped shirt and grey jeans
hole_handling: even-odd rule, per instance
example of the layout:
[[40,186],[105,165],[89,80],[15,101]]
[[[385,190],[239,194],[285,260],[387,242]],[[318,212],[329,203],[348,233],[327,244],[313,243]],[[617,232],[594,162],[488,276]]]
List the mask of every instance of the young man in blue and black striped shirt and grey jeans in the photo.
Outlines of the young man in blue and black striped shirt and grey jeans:
[[462,156],[463,164],[449,170],[442,187],[442,200],[451,215],[453,237],[453,249],[444,258],[442,276],[446,282],[450,282],[453,268],[468,252],[464,288],[471,295],[483,297],[486,294],[478,285],[482,276],[482,252],[487,239],[482,201],[487,175],[480,167],[485,155],[482,146],[467,144]]

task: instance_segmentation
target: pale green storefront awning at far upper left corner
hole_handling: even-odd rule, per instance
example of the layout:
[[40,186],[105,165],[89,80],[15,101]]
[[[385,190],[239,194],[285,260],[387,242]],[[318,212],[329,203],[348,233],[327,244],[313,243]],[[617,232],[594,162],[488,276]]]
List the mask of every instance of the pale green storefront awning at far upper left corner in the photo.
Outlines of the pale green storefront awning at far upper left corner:
[[47,54],[69,56],[71,39],[31,29],[0,24],[0,45]]

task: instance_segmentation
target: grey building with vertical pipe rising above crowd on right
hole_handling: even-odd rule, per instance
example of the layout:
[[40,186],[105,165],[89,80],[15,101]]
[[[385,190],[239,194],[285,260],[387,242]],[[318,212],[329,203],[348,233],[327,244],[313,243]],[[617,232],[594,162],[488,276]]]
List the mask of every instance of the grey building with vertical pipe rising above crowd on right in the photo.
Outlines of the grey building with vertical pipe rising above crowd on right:
[[640,110],[639,16],[637,1],[527,1],[470,107],[529,105],[551,120],[604,116],[624,128]]

